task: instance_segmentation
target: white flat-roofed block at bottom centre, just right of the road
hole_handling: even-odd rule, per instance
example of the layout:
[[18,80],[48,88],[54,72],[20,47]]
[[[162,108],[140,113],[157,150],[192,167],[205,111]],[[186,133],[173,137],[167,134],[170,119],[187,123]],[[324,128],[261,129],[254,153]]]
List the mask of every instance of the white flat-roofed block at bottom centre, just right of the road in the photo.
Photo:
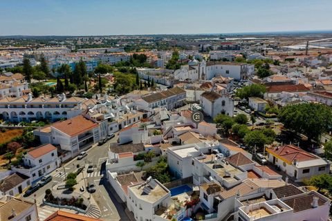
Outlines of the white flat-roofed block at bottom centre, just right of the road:
[[158,218],[155,214],[159,210],[165,211],[170,200],[170,191],[158,180],[148,179],[142,184],[128,186],[127,207],[137,221]]

